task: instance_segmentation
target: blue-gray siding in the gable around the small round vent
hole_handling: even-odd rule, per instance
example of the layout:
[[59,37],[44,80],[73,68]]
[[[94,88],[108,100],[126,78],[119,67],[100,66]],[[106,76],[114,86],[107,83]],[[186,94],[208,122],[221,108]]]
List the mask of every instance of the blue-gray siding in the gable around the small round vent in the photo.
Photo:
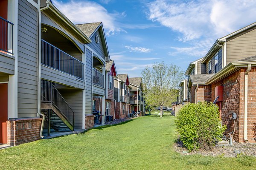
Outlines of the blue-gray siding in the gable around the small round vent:
[[[99,43],[98,44],[96,43],[96,40],[95,40],[96,35],[99,36]],[[100,55],[98,57],[101,57],[105,61],[104,48],[103,48],[103,45],[102,45],[101,36],[99,35],[99,30],[96,31],[96,33],[91,37],[90,40],[92,40],[92,42],[90,44],[88,44],[88,46],[90,48],[92,48],[94,51],[96,51],[97,54]]]

